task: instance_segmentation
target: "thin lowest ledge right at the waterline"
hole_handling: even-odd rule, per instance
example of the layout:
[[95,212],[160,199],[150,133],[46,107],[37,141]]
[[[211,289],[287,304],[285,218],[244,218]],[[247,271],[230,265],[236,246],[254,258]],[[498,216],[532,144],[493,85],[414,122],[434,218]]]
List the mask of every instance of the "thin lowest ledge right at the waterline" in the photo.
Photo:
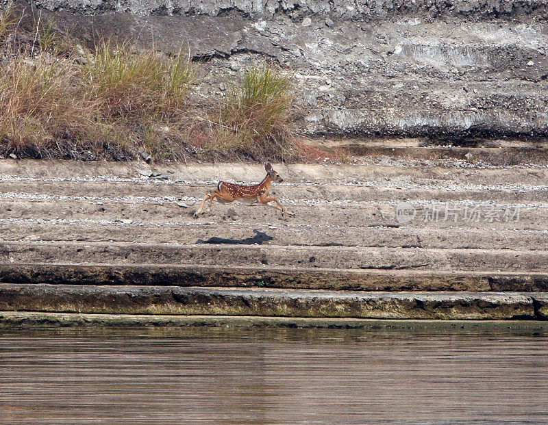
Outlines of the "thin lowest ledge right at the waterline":
[[51,327],[100,327],[125,329],[170,329],[184,331],[190,327],[222,328],[302,328],[364,329],[370,331],[508,333],[539,335],[548,331],[547,322],[537,320],[375,320],[356,318],[282,318],[264,316],[219,315],[138,315],[90,313],[41,313],[36,311],[0,311],[3,329],[44,329]]

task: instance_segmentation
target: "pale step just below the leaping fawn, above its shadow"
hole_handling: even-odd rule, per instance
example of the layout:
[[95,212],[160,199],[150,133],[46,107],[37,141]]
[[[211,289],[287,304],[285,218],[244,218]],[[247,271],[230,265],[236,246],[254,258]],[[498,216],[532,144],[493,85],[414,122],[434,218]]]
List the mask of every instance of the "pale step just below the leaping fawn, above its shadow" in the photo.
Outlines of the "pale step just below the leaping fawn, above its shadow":
[[[508,195],[510,196],[510,195]],[[488,197],[488,194],[486,194]],[[548,231],[546,210],[548,203],[544,199],[538,203],[497,203],[459,201],[451,198],[447,203],[401,198],[398,201],[368,202],[317,202],[306,205],[304,202],[279,198],[295,217],[282,216],[270,206],[245,205],[234,202],[230,204],[214,203],[210,214],[203,214],[195,220],[192,214],[197,210],[196,201],[184,201],[187,207],[180,207],[175,202],[128,202],[110,203],[108,201],[10,201],[0,203],[0,222],[3,229],[9,231],[13,225],[24,224],[101,224],[109,225],[119,220],[131,220],[128,224],[142,225],[186,225],[199,227],[208,224],[227,225],[229,209],[232,209],[240,223],[253,226],[266,224],[288,227],[304,226],[329,227],[419,227],[428,229],[488,229],[509,230],[523,229]],[[410,222],[398,222],[396,209],[401,202],[407,202],[415,215]],[[474,214],[474,215],[473,215]],[[8,229],[6,229],[8,227]],[[0,231],[4,231],[0,229]]]

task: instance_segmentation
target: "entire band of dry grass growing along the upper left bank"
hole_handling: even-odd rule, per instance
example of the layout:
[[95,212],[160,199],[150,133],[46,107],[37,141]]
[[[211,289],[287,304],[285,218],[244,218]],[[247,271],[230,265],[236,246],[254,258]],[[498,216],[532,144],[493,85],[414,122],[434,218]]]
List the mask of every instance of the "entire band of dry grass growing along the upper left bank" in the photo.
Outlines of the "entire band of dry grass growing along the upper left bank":
[[292,140],[290,78],[270,66],[253,66],[239,83],[227,84],[221,107],[211,114],[188,101],[196,67],[183,51],[165,55],[112,40],[86,49],[41,16],[25,31],[20,15],[0,13],[0,155],[310,156]]

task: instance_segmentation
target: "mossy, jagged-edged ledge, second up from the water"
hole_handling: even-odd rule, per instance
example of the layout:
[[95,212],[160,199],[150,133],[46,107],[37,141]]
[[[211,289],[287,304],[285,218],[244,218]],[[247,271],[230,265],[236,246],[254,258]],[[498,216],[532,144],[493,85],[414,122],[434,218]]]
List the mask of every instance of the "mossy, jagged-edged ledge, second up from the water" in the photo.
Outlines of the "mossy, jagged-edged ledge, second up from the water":
[[548,293],[348,292],[0,284],[0,311],[308,318],[544,320]]

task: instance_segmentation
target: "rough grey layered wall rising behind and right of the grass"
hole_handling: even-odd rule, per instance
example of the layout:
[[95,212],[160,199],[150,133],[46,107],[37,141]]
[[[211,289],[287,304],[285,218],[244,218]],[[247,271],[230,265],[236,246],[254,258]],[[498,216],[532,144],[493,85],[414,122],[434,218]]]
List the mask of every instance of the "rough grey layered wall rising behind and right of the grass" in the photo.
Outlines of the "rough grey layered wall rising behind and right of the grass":
[[548,133],[545,1],[18,3],[84,42],[108,36],[188,50],[199,62],[199,107],[214,107],[225,81],[269,62],[292,76],[306,136]]

